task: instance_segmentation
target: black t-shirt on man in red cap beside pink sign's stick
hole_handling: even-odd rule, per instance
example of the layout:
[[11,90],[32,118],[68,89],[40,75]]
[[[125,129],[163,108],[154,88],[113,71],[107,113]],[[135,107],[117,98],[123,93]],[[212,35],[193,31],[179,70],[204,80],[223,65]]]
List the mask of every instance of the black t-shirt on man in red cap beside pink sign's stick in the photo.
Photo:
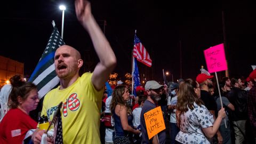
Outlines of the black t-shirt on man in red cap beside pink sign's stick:
[[217,104],[214,100],[214,97],[212,97],[209,92],[201,90],[201,100],[204,102],[204,106],[208,110],[214,110],[217,111]]

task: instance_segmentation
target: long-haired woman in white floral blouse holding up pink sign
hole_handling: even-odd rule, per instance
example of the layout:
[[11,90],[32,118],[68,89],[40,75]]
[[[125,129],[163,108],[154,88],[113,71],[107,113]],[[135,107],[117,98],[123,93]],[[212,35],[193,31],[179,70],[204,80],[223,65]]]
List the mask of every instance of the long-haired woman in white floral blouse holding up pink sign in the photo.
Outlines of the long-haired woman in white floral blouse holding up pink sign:
[[200,86],[196,81],[187,79],[180,84],[176,106],[180,132],[175,138],[180,143],[210,144],[210,139],[218,131],[222,118],[226,116],[225,109],[221,108],[214,122],[213,116],[199,97]]

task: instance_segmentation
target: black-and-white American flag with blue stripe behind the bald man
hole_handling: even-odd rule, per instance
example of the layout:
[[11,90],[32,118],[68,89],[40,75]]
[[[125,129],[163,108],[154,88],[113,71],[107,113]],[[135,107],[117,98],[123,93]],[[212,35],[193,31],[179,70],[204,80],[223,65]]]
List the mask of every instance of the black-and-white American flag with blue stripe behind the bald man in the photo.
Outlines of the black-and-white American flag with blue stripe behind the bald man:
[[59,77],[55,73],[54,54],[61,45],[65,45],[65,43],[57,27],[54,26],[42,57],[29,78],[29,82],[33,82],[37,85],[40,99],[60,82]]

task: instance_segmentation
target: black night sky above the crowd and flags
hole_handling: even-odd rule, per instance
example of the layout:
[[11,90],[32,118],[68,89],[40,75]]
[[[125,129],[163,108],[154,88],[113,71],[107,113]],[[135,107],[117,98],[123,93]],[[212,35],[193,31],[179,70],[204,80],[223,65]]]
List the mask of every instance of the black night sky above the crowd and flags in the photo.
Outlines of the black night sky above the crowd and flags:
[[[98,61],[90,37],[76,19],[74,1],[5,1],[0,10],[0,55],[24,62],[26,75],[33,72],[45,49],[53,30],[52,20],[61,32],[60,3],[67,6],[65,43],[82,55],[90,54],[91,69]],[[223,43],[222,10],[230,76],[246,78],[252,71],[251,65],[256,65],[256,9],[251,2],[214,1],[199,5],[186,1],[98,0],[91,3],[92,13],[102,29],[102,20],[107,21],[106,36],[118,60],[114,71],[120,75],[131,73],[134,31],[137,29],[137,36],[153,60],[150,69],[139,63],[140,74],[145,70],[153,71],[154,79],[161,81],[164,68],[173,73],[174,79],[180,78],[181,44],[183,78],[195,78],[201,65],[206,68],[203,50]]]

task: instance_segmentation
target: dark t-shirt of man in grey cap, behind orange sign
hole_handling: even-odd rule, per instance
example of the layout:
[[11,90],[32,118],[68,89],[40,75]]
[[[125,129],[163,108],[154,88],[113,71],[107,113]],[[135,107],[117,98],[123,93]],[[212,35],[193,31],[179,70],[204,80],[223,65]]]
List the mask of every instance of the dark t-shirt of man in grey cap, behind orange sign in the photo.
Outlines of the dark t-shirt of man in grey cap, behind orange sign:
[[[154,103],[152,103],[148,100],[146,100],[144,102],[144,105],[142,107],[141,114],[140,114],[141,134],[142,134],[141,135],[141,137],[142,137],[141,143],[152,143],[153,138],[148,140],[148,133],[147,133],[147,127],[146,127],[146,123],[145,123],[144,114],[154,108],[156,108],[156,105]],[[165,130],[158,133],[159,144],[164,144],[165,138],[166,138]]]

